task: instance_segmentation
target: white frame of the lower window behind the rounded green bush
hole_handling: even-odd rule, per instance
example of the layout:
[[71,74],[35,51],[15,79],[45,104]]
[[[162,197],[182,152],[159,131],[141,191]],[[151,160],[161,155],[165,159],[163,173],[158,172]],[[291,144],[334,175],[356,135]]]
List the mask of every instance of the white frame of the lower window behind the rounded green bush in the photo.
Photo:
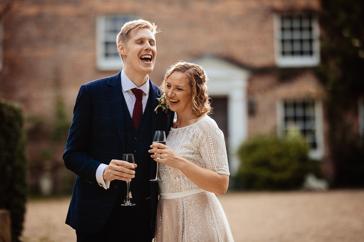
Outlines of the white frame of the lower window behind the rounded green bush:
[[285,102],[313,102],[314,103],[314,135],[316,138],[316,148],[309,149],[311,159],[320,160],[324,156],[324,128],[323,128],[323,103],[314,99],[285,99],[277,102],[277,135],[285,136]]

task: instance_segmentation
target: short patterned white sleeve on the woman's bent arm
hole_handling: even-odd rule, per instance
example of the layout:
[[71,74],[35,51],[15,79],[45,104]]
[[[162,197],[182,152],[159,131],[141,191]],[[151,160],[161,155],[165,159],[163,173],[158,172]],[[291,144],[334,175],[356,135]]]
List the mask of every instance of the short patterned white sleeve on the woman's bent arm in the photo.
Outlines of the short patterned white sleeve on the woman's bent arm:
[[211,118],[203,120],[199,126],[199,147],[206,168],[219,174],[230,175],[223,132]]

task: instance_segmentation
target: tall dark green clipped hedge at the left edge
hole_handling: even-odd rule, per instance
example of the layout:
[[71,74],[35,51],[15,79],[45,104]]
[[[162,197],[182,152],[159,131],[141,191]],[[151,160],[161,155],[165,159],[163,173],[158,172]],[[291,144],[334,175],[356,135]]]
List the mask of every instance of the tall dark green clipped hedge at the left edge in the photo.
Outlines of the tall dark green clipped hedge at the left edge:
[[27,161],[21,108],[0,100],[0,208],[11,212],[12,241],[23,230]]

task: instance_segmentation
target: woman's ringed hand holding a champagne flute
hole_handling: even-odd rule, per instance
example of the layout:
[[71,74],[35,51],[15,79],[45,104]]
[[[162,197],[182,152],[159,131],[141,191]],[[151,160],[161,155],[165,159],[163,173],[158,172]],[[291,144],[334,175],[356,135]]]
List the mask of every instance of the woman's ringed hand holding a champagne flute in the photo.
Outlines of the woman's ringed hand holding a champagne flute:
[[164,163],[170,167],[178,168],[180,156],[177,155],[170,147],[161,143],[152,144],[150,147],[152,149],[148,152],[153,153],[150,157],[154,158],[155,161]]

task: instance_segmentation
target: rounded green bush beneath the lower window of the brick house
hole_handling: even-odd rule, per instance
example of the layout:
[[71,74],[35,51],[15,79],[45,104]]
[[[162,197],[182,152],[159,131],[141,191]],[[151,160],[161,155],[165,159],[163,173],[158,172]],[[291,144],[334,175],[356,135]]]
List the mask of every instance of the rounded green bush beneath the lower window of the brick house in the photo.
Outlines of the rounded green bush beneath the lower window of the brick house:
[[297,138],[257,136],[238,149],[240,167],[236,182],[247,190],[297,189],[318,164],[308,157],[304,142]]

